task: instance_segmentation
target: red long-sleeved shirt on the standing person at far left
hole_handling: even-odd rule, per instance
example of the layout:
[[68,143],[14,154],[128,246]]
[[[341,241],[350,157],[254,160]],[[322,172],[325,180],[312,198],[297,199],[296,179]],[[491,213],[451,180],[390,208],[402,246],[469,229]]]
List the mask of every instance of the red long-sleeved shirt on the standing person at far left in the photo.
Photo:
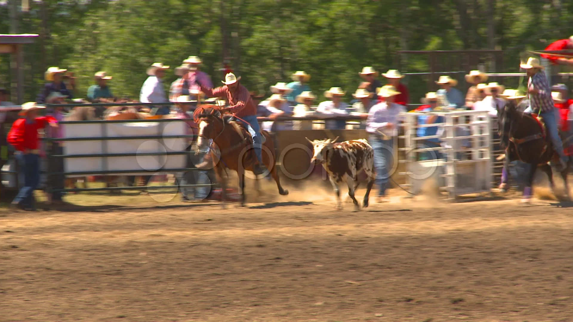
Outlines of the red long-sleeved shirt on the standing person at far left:
[[6,138],[18,151],[36,150],[40,146],[38,129],[46,127],[48,123],[57,123],[52,116],[36,117],[31,123],[27,123],[26,120],[26,118],[15,120]]

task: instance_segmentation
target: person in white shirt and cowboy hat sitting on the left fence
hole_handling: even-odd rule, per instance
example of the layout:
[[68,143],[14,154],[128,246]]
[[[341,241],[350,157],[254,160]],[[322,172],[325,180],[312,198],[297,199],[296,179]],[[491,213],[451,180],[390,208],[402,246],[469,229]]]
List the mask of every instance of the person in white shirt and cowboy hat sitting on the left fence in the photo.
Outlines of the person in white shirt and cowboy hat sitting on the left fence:
[[[166,103],[167,96],[163,89],[162,78],[165,76],[165,70],[169,66],[164,66],[160,62],[154,62],[147,68],[146,81],[143,83],[142,89],[139,93],[139,101],[141,103]],[[151,115],[168,115],[170,112],[169,105],[160,105],[152,108]]]

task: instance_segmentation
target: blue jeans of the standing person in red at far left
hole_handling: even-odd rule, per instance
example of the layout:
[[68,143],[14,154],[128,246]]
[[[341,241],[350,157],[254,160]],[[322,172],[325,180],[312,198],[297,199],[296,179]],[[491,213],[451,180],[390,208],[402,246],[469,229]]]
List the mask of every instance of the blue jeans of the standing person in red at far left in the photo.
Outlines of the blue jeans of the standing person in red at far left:
[[33,207],[34,190],[40,183],[40,156],[37,154],[17,154],[20,178],[23,177],[24,184],[14,198],[14,203],[18,205]]

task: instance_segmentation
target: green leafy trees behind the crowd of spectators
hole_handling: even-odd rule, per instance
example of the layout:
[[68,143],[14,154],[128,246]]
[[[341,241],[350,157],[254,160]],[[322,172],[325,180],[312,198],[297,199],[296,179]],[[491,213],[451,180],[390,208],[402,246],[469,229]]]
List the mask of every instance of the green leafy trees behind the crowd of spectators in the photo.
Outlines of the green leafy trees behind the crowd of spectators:
[[[21,0],[0,0],[0,33],[10,32],[12,1],[19,8]],[[516,72],[525,50],[573,34],[572,13],[573,1],[564,0],[43,0],[19,13],[18,32],[41,34],[25,46],[25,100],[36,97],[49,66],[76,73],[80,97],[98,70],[114,77],[116,95],[138,97],[149,64],[175,67],[189,55],[203,59],[214,83],[226,57],[250,90],[268,93],[306,70],[317,95],[338,86],[350,98],[363,66],[429,71],[427,57],[397,50],[501,49],[502,64],[479,57],[474,65]],[[440,69],[459,70],[457,58],[441,58]],[[427,77],[405,80],[411,103],[435,89]],[[0,86],[10,79],[2,54]],[[174,79],[171,71],[166,84]]]

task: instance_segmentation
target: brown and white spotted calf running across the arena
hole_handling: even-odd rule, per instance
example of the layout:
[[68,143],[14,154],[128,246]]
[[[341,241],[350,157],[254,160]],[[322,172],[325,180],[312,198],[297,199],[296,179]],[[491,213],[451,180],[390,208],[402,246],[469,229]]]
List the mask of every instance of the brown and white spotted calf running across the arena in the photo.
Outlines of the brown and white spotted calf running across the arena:
[[348,184],[348,195],[352,198],[352,202],[354,202],[355,210],[360,210],[354,193],[360,184],[358,174],[361,171],[364,171],[368,177],[367,190],[363,203],[364,207],[368,207],[368,195],[370,194],[376,176],[374,172],[374,150],[372,150],[370,144],[364,139],[340,143],[335,143],[338,137],[334,140],[311,141],[308,138],[306,139],[312,144],[314,150],[311,163],[321,163],[324,170],[328,173],[328,178],[336,193],[336,208],[339,210],[342,209],[338,185],[346,182],[346,184]]

